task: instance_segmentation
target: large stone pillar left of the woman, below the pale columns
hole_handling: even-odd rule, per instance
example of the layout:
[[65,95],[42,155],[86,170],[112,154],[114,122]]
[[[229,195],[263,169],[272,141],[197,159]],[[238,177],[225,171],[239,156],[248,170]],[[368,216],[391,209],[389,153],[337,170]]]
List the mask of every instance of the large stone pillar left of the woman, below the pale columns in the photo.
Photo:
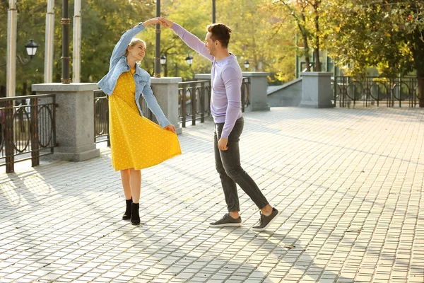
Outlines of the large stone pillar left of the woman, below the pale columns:
[[95,83],[33,84],[37,94],[56,94],[56,142],[49,158],[66,161],[85,161],[100,156],[94,138]]

